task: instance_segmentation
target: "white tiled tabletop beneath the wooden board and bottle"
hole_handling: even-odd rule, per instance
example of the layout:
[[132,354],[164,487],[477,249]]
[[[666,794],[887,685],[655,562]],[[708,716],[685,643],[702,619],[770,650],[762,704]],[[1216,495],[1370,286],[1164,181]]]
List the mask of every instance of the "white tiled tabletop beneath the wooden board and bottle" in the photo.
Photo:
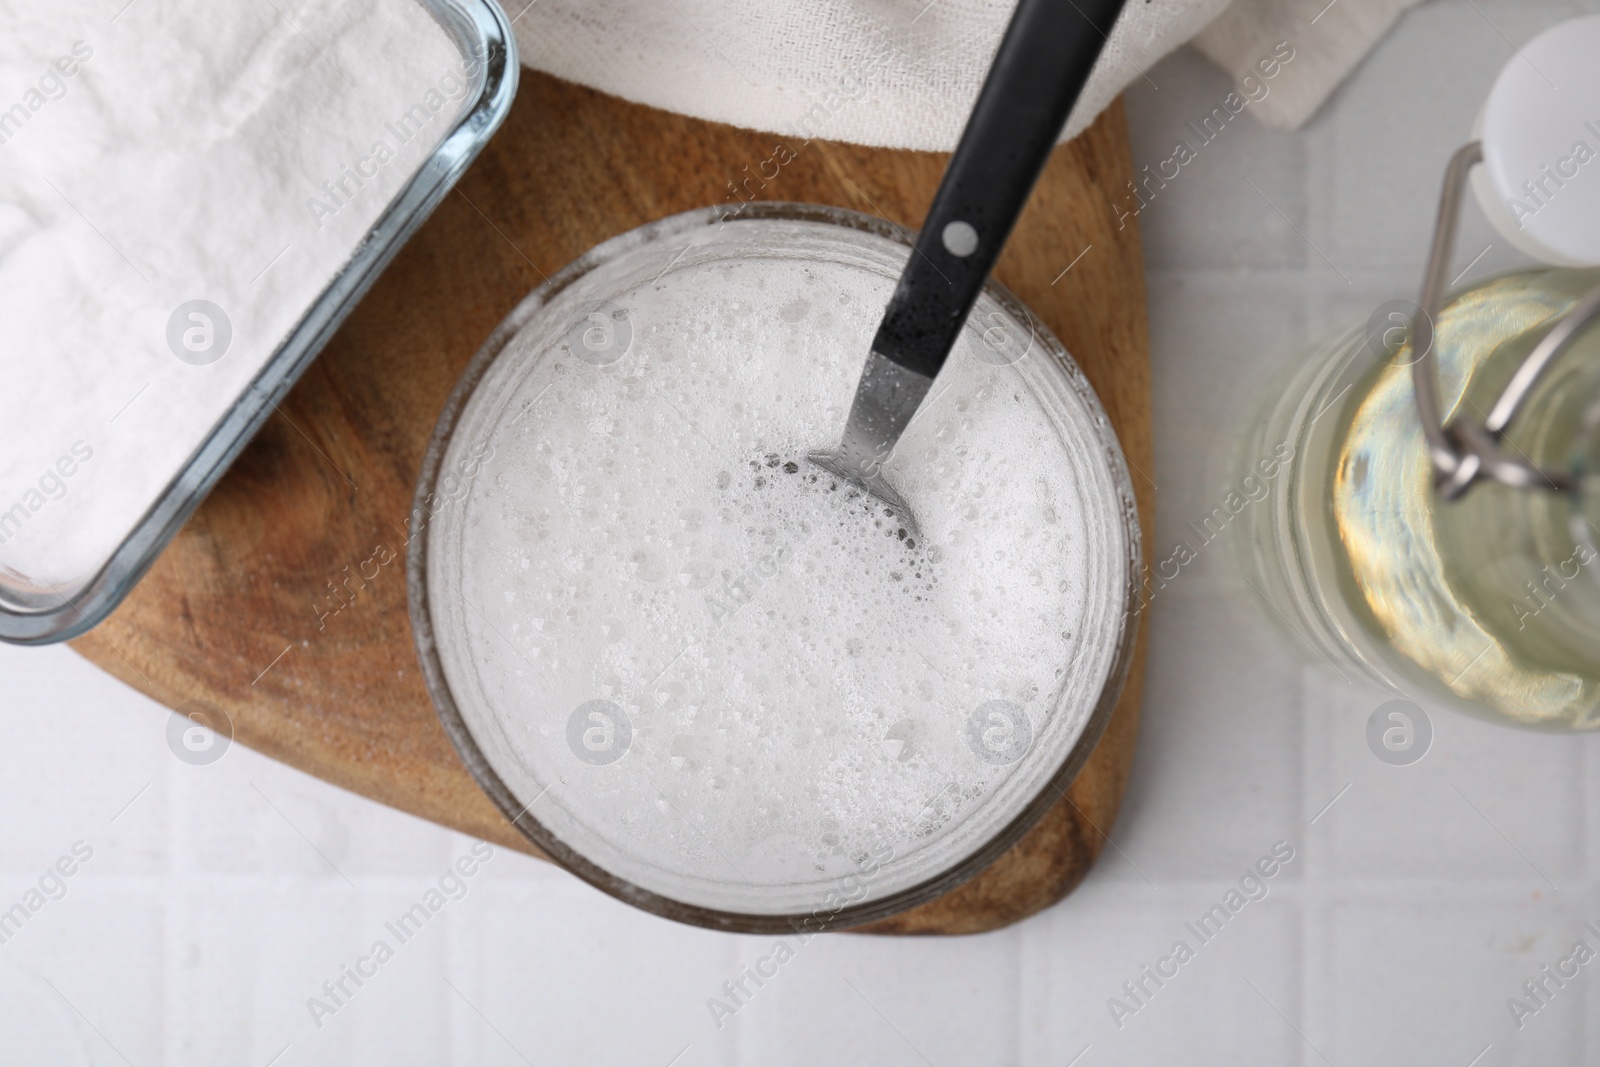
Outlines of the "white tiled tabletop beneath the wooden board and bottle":
[[[1306,131],[1235,120],[1144,211],[1155,552],[1226,493],[1266,374],[1413,293],[1510,42],[1590,6],[1424,5]],[[1187,51],[1149,77],[1136,165],[1229,88]],[[1474,218],[1462,261],[1488,243]],[[1509,262],[1496,243],[1477,270]],[[318,1027],[307,998],[470,841],[243,749],[179,763],[160,707],[66,649],[0,648],[0,909],[94,849],[0,944],[0,1064],[1595,1062],[1600,963],[1520,1032],[1506,1000],[1600,949],[1600,739],[1440,712],[1427,758],[1387,766],[1363,741],[1384,694],[1302,665],[1251,597],[1224,536],[1157,598],[1117,848],[1066,904],[981,937],[813,939],[720,1030],[706,1000],[773,939],[504,851]],[[1270,894],[1200,945],[1184,923],[1280,840]],[[1114,1025],[1107,998],[1178,939],[1194,958]]]

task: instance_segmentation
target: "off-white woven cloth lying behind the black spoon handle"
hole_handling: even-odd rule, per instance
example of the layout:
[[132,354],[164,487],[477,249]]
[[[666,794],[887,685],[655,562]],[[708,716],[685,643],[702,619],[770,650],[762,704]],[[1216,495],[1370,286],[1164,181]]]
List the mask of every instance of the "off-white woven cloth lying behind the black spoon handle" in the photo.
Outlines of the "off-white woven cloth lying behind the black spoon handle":
[[[1272,93],[1251,110],[1270,125],[1298,125],[1414,2],[1334,0],[1318,11],[1325,0],[1234,0],[1232,6],[1130,0],[1062,139],[1088,126],[1134,78],[1149,80],[1155,61],[1197,34],[1202,50],[1246,94],[1246,75],[1259,80],[1270,69]],[[947,150],[1013,3],[510,0],[507,6],[522,61],[570,82],[736,126]],[[1283,42],[1293,62],[1272,66]]]

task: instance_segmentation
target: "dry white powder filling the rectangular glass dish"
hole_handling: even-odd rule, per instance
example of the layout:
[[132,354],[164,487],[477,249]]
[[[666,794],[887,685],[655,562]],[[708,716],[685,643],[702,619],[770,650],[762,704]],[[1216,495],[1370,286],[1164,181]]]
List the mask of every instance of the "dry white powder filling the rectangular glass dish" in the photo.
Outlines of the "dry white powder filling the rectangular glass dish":
[[464,109],[416,0],[0,0],[0,577],[91,576]]

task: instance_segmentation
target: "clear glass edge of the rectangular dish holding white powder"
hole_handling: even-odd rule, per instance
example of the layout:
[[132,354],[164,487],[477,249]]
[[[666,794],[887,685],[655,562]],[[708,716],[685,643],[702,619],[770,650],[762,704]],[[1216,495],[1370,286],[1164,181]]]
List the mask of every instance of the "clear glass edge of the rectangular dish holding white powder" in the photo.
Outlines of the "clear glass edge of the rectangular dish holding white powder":
[[102,622],[122,603],[506,120],[520,70],[506,13],[493,0],[416,2],[464,59],[482,62],[477,96],[99,569],[66,595],[24,593],[0,576],[0,641],[66,641]]

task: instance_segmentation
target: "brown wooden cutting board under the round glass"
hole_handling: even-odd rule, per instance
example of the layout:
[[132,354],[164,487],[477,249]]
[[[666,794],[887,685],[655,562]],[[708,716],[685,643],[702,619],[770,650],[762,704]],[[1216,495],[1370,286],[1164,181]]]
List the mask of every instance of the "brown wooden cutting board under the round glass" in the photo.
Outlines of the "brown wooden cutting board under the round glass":
[[[74,646],[170,707],[222,709],[237,741],[277,760],[536,853],[456,758],[411,645],[402,530],[451,384],[531,288],[608,237],[734,195],[840,205],[915,227],[942,170],[938,154],[734,130],[525,70],[510,117],[458,190],[139,587]],[[1131,178],[1118,102],[1056,150],[997,275],[1094,384],[1136,467],[1150,530],[1144,270],[1134,221],[1118,229],[1112,208]],[[318,619],[346,568],[378,573],[354,603]],[[1066,896],[1117,816],[1142,662],[1141,635],[1104,739],[1022,841],[963,888],[870,929],[992,929]]]

